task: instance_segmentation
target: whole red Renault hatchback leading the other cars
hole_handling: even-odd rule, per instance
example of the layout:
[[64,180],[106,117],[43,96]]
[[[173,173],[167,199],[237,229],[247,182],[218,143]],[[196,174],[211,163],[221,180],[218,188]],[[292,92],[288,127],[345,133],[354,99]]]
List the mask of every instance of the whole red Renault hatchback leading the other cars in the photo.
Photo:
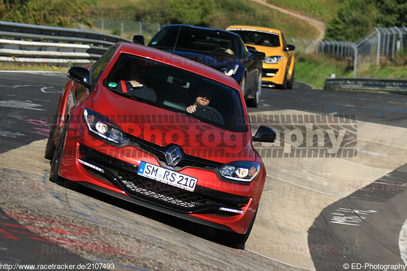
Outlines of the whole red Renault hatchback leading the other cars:
[[130,43],[68,77],[45,152],[51,181],[63,177],[245,243],[266,178],[252,141],[273,142],[275,133],[262,126],[252,137],[233,78]]

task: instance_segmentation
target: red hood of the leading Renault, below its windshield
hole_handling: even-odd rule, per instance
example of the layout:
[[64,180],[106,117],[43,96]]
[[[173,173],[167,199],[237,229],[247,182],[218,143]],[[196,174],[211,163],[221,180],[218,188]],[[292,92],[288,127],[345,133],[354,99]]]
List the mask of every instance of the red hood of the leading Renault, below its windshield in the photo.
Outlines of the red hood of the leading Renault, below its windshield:
[[230,132],[191,117],[140,103],[100,87],[93,110],[108,117],[125,133],[160,146],[180,145],[185,154],[220,163],[257,161],[249,132]]

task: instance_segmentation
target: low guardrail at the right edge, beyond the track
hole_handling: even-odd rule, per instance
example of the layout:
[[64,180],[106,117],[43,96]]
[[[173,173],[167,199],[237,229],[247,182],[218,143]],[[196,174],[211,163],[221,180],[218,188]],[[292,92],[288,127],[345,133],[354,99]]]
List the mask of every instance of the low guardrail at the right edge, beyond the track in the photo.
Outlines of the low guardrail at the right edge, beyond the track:
[[407,94],[407,80],[381,78],[327,78],[324,89]]

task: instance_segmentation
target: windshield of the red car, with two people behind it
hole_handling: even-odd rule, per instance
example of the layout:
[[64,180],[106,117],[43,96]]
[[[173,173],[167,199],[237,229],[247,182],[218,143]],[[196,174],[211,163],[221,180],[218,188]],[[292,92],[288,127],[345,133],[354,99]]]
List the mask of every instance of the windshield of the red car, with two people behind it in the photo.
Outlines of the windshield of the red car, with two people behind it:
[[[104,80],[111,91],[232,131],[247,129],[239,90],[150,58],[122,53]],[[209,103],[187,107],[205,97]]]

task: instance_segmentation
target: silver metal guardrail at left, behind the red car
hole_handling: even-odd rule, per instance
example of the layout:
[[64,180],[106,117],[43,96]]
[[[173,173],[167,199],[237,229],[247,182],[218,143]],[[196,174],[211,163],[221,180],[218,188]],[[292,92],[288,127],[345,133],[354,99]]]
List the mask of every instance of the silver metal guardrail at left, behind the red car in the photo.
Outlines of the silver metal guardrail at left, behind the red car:
[[6,62],[87,64],[121,41],[132,42],[100,32],[0,21],[0,61]]

